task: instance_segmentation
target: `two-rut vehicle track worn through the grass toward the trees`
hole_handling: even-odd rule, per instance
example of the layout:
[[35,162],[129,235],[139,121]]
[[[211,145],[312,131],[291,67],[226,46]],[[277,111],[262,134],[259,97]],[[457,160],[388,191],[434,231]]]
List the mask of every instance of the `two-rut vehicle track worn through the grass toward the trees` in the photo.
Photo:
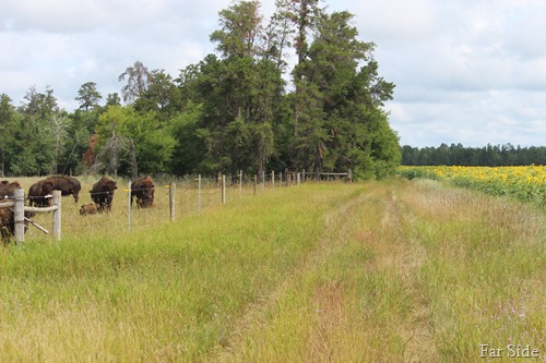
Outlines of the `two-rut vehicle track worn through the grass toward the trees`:
[[364,185],[324,216],[312,253],[249,307],[215,360],[438,362],[418,281],[425,249],[397,199],[407,184]]

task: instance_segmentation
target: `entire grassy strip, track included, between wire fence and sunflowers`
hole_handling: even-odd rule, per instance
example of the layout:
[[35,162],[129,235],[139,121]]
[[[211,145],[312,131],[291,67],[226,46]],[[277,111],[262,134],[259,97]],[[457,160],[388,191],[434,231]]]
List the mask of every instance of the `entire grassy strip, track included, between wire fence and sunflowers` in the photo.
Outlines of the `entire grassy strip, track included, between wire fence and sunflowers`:
[[8,246],[0,362],[482,362],[485,343],[542,362],[545,225],[524,205],[390,180]]

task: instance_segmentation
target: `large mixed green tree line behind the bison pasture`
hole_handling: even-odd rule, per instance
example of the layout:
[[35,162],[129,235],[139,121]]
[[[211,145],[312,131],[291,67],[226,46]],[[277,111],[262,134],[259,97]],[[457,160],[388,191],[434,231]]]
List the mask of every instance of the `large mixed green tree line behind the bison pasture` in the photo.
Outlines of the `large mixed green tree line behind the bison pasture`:
[[260,1],[234,2],[210,35],[215,52],[176,76],[136,61],[120,94],[103,102],[87,82],[72,112],[50,87],[20,107],[0,95],[1,174],[393,173],[401,149],[383,102],[394,84],[354,15],[319,2],[277,0],[269,22]]

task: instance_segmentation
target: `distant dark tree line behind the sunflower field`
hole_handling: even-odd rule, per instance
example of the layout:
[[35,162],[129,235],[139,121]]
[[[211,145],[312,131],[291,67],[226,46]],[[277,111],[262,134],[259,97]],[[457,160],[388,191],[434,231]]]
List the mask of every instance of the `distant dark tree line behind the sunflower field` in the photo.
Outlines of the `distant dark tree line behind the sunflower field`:
[[514,147],[512,144],[464,147],[441,144],[439,147],[402,146],[404,166],[505,167],[546,165],[546,146]]

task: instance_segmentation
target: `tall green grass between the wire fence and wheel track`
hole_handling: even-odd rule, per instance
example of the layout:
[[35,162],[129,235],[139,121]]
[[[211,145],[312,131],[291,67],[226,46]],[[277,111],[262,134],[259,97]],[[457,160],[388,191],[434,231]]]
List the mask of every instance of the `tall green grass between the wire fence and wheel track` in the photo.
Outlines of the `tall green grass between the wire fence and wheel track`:
[[0,361],[198,360],[314,249],[321,215],[352,192],[293,189],[130,235],[9,246]]

